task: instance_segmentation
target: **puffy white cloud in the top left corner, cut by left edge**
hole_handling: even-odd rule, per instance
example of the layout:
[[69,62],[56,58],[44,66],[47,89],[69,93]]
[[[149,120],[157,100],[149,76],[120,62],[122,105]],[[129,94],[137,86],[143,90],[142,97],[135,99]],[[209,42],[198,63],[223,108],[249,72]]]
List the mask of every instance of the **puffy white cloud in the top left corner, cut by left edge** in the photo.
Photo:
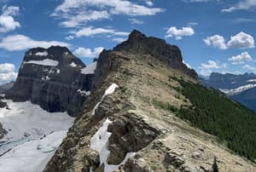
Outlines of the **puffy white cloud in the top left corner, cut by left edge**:
[[2,11],[3,13],[0,15],[0,32],[9,32],[20,27],[20,23],[14,19],[14,16],[19,14],[19,7],[3,6]]

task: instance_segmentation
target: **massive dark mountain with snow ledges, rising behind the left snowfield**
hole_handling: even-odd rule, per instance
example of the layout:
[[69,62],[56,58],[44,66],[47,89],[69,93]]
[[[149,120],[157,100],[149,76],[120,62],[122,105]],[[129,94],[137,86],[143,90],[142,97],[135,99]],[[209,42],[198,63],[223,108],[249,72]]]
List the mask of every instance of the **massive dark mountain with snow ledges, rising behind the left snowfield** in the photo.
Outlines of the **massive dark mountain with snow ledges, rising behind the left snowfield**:
[[31,100],[49,112],[67,111],[75,116],[85,100],[78,90],[89,91],[93,78],[93,74],[81,73],[84,67],[67,48],[30,49],[6,97],[15,101]]

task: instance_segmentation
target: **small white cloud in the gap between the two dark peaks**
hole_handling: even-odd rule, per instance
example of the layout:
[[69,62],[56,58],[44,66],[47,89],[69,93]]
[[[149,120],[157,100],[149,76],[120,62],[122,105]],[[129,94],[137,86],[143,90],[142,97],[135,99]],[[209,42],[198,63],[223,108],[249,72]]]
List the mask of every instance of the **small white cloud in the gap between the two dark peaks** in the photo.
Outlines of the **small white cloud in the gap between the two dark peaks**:
[[75,49],[74,54],[76,54],[80,57],[95,58],[95,57],[98,57],[98,55],[102,53],[103,49],[104,49],[103,47],[96,47],[93,50],[79,48],[79,49]]

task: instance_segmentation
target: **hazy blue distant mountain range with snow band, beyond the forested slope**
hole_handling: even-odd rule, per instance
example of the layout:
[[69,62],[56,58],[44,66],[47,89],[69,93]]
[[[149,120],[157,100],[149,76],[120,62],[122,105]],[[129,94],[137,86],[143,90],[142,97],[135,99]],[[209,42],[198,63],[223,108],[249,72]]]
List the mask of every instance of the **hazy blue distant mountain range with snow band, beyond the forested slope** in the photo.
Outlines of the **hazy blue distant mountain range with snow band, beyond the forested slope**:
[[254,73],[235,75],[212,72],[208,79],[200,77],[200,81],[204,86],[219,89],[231,99],[256,112],[256,75]]

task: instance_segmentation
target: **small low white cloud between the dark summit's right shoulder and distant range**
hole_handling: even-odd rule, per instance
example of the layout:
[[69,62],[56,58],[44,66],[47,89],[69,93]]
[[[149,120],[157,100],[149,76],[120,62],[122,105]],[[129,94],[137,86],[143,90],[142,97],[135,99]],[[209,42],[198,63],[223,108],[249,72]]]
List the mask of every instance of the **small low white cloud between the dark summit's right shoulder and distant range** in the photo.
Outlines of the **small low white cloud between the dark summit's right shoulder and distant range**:
[[201,66],[199,68],[201,69],[201,75],[209,76],[213,72],[213,70],[224,69],[226,67],[226,64],[219,65],[218,62],[214,60],[208,60],[207,63],[201,63]]

